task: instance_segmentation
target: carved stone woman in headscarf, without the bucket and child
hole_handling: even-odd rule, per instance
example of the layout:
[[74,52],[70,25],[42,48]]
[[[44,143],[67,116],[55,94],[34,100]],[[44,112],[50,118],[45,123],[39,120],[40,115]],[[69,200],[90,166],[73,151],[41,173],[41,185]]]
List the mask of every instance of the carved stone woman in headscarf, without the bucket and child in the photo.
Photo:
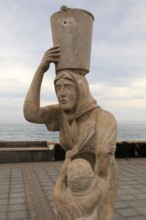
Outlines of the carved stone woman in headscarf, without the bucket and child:
[[[60,144],[72,150],[72,160],[87,160],[93,171],[98,163],[97,219],[111,220],[117,193],[118,169],[115,162],[117,125],[113,115],[99,107],[89,91],[80,70],[61,70],[54,80],[58,105],[40,107],[40,89],[50,63],[57,63],[61,51],[53,47],[46,51],[34,75],[24,103],[25,118],[43,123],[50,131],[60,131]],[[65,219],[64,219],[65,220]]]

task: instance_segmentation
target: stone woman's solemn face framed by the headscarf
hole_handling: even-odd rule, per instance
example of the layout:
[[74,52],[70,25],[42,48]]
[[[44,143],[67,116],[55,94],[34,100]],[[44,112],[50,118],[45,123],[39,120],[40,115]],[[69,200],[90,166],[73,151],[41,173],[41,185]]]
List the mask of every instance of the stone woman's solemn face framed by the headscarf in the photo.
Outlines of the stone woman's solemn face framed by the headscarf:
[[60,78],[55,84],[60,107],[67,113],[74,113],[77,106],[78,89],[70,79]]

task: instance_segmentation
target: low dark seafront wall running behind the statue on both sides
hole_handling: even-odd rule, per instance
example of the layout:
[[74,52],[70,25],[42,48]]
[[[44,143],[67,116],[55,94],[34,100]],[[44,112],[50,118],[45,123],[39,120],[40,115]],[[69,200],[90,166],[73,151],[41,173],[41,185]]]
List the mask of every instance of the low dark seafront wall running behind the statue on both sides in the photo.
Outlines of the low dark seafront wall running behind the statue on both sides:
[[[146,141],[117,142],[116,158],[146,157]],[[0,163],[64,160],[58,142],[0,141]]]

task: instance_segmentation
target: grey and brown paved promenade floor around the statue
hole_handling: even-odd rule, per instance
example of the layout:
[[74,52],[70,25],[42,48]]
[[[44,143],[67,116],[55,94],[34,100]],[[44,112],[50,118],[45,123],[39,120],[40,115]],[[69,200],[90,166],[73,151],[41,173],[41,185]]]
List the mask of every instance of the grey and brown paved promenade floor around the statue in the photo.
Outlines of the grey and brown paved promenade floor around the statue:
[[[146,219],[146,158],[117,159],[114,220]],[[54,220],[52,189],[62,162],[0,164],[0,220]]]

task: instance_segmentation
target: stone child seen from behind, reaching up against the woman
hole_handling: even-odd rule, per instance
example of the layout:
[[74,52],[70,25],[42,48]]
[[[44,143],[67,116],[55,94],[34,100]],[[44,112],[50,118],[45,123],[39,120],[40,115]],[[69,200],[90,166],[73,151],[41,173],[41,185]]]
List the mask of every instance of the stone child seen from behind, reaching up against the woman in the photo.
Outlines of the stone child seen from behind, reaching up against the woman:
[[57,219],[97,219],[102,183],[87,160],[67,157],[54,187]]

